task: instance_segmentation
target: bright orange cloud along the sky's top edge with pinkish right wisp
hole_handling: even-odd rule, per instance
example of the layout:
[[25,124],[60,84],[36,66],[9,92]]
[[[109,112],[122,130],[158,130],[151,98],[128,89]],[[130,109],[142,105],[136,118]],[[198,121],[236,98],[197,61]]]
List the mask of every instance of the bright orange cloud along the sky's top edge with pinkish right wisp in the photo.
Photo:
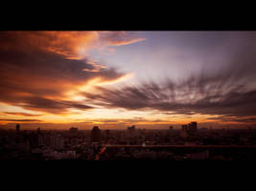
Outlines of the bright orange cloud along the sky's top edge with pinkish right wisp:
[[[145,38],[133,36],[130,32],[7,32],[15,42],[26,42],[25,46],[34,47],[45,52],[58,53],[65,58],[82,59],[92,49],[106,49],[110,53],[114,49],[107,46],[124,46],[144,41]],[[5,49],[15,46],[7,43]]]

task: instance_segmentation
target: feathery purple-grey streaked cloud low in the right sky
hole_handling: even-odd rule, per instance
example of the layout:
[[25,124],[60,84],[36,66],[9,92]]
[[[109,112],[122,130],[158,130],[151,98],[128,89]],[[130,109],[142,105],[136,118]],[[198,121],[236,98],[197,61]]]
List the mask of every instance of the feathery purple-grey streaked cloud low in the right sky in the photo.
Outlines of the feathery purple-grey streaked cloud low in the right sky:
[[256,115],[256,89],[238,83],[232,76],[190,77],[180,83],[142,83],[121,89],[99,88],[101,94],[84,96],[101,101],[106,108],[155,110],[169,115],[222,115],[250,117]]

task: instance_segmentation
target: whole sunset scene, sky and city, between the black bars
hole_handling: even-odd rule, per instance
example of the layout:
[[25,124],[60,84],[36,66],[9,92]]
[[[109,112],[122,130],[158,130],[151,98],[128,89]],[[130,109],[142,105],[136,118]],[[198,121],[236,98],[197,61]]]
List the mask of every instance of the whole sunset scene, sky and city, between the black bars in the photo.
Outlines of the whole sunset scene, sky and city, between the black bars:
[[256,32],[0,32],[0,160],[256,160]]

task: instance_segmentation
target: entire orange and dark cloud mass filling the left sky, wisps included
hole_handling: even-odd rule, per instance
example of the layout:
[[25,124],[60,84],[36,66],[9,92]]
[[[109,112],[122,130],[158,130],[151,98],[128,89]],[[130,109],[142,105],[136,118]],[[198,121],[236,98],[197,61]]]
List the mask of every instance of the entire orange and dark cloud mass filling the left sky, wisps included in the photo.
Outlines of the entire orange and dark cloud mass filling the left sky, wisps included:
[[19,120],[15,117],[41,118],[49,113],[61,117],[72,109],[90,111],[94,106],[83,101],[80,87],[90,82],[95,82],[91,86],[118,83],[129,76],[89,58],[90,51],[102,47],[114,53],[113,46],[142,40],[128,32],[1,32],[0,102],[46,113],[0,108],[2,116],[11,116],[9,122],[15,122]]

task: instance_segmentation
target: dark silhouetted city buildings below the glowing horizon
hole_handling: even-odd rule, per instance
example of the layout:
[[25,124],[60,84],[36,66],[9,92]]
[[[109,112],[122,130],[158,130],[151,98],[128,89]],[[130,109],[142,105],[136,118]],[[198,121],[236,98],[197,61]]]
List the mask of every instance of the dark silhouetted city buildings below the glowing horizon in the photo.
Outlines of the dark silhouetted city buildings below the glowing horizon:
[[256,130],[198,129],[193,121],[165,130],[0,131],[0,160],[254,160]]

